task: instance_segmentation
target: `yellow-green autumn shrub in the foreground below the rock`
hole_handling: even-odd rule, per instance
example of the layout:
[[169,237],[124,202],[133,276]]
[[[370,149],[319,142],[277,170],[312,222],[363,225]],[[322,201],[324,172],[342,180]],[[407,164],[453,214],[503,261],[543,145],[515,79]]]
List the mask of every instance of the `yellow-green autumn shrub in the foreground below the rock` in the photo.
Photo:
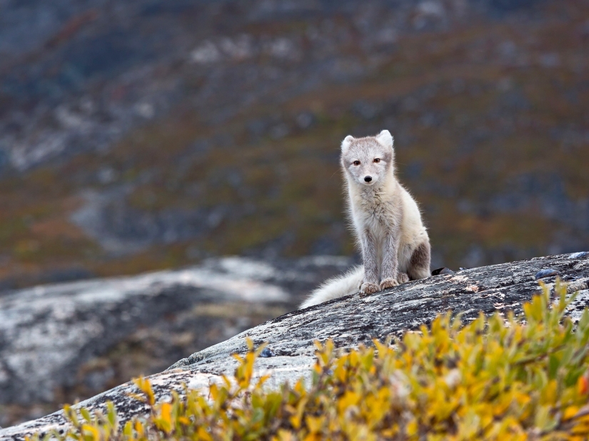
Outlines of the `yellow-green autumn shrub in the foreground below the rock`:
[[157,404],[135,380],[148,417],[117,425],[116,411],[81,416],[59,440],[586,440],[589,437],[589,312],[564,317],[565,285],[550,305],[543,287],[523,320],[495,314],[465,324],[441,315],[401,340],[336,355],[317,343],[313,382],[252,381],[261,348],[233,379]]

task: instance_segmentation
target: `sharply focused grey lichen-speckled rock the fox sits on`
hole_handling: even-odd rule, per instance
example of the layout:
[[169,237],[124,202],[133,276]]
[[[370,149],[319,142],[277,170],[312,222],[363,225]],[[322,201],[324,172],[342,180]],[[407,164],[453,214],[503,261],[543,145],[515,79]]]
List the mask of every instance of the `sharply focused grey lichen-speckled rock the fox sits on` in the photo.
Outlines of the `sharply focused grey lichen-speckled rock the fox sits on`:
[[[487,315],[508,310],[520,313],[522,304],[538,290],[538,279],[550,285],[557,277],[569,283],[571,293],[579,291],[568,310],[570,317],[577,320],[589,305],[589,253],[460,270],[374,295],[351,295],[296,310],[180,360],[168,370],[151,375],[150,380],[159,400],[171,390],[181,392],[183,384],[193,389],[207,387],[220,381],[221,375],[233,373],[236,361],[231,354],[246,352],[248,336],[256,345],[268,343],[271,356],[256,361],[255,375],[271,375],[267,384],[277,387],[286,380],[309,377],[314,363],[314,340],[331,338],[338,348],[355,348],[361,343],[370,344],[373,338],[401,335],[404,330],[428,324],[446,310],[463,313],[464,320],[475,318],[479,311]],[[128,420],[145,412],[144,405],[129,397],[128,392],[133,390],[134,385],[126,383],[78,406],[99,410],[111,400],[121,419]],[[56,412],[1,430],[0,440],[20,440],[33,433],[63,430],[66,425],[63,412]]]

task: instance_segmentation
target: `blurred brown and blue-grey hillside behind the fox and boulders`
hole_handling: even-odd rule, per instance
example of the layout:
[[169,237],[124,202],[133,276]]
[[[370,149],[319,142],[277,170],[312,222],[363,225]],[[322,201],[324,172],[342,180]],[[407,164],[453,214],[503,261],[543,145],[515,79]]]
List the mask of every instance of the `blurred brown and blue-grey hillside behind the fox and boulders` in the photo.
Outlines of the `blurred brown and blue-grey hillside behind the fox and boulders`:
[[387,128],[433,265],[589,248],[587,0],[2,0],[1,288],[352,255]]

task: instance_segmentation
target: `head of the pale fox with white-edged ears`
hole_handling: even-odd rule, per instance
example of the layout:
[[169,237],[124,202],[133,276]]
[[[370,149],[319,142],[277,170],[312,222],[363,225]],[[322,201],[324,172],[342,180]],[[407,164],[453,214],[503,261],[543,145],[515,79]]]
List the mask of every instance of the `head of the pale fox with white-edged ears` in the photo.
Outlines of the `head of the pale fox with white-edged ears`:
[[346,136],[341,143],[341,166],[348,181],[360,186],[380,186],[393,173],[393,136],[383,130],[377,136]]

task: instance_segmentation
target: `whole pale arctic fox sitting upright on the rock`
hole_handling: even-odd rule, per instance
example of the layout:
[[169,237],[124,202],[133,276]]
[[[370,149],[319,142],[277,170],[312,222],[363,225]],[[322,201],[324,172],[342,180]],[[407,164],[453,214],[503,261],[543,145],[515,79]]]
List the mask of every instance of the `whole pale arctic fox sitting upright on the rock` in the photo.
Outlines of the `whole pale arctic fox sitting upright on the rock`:
[[301,308],[343,295],[376,293],[430,273],[431,248],[416,201],[395,176],[393,137],[377,136],[341,143],[341,167],[348,183],[348,212],[363,266],[327,280]]

